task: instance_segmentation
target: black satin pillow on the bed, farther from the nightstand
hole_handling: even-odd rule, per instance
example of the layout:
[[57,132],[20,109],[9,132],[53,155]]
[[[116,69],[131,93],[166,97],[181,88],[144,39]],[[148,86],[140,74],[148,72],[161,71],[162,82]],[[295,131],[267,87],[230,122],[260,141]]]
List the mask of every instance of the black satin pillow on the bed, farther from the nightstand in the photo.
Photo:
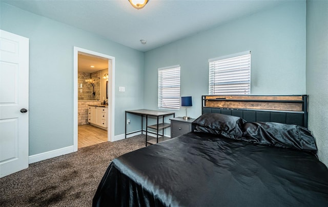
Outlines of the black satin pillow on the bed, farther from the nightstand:
[[305,127],[275,122],[247,122],[242,126],[247,141],[299,150],[317,152],[314,137]]

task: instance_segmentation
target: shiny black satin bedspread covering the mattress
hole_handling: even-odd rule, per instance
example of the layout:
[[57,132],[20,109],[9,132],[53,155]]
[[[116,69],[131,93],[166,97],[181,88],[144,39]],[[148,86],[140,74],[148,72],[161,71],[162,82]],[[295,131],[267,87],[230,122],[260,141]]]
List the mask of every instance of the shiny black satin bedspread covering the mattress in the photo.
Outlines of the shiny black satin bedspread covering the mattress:
[[328,206],[316,155],[190,132],[113,160],[93,206]]

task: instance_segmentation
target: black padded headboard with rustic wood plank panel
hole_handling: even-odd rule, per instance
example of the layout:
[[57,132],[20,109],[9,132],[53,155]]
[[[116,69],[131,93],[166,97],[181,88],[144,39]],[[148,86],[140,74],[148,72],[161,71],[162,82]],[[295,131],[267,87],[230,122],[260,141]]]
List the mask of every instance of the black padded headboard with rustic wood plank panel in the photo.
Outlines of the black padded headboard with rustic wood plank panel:
[[223,113],[248,122],[279,122],[308,128],[308,95],[202,96],[201,113]]

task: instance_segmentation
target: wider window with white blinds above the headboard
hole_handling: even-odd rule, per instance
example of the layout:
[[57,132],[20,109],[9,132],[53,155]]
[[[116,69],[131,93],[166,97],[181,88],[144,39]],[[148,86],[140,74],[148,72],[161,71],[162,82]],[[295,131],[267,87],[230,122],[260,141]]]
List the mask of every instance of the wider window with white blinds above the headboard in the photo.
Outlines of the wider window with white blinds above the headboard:
[[210,95],[251,94],[251,51],[209,60]]

